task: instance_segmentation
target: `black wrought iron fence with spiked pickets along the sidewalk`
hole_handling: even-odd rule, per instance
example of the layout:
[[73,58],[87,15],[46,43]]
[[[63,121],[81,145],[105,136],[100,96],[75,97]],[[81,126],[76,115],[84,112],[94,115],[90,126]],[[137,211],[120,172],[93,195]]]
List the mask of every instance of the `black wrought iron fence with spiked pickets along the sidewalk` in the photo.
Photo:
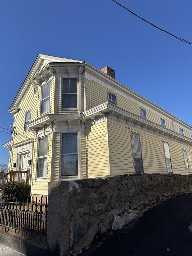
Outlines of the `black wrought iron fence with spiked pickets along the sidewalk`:
[[47,198],[45,202],[29,202],[30,197],[8,199],[0,201],[0,227],[12,232],[18,230],[18,234],[28,236],[34,235],[35,238],[47,237]]

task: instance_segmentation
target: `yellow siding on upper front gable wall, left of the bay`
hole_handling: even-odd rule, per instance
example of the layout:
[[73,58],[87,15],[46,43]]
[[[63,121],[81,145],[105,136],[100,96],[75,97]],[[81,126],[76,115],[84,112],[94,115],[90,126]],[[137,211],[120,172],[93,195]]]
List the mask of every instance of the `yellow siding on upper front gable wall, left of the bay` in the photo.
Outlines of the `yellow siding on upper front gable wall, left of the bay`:
[[18,115],[14,118],[14,126],[17,132],[17,135],[15,134],[14,144],[25,141],[27,138],[35,137],[29,130],[24,132],[25,113],[30,110],[30,121],[37,118],[37,94],[34,95],[33,92],[34,87],[30,85],[18,106],[20,110],[18,111]]

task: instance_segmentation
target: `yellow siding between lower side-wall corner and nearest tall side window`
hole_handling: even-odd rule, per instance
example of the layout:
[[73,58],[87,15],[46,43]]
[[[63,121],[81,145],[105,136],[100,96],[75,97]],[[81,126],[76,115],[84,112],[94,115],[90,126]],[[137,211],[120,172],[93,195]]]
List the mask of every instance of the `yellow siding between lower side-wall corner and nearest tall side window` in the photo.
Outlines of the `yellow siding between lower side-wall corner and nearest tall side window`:
[[108,121],[108,138],[111,175],[134,173],[129,129]]

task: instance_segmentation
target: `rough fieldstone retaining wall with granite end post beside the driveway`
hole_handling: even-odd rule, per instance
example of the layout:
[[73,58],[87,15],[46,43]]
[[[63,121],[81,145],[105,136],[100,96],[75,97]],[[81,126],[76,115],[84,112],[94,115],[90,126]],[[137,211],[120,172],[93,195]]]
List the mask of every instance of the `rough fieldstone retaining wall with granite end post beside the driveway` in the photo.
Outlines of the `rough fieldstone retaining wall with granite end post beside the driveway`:
[[[149,206],[190,191],[192,175],[132,174],[49,182],[50,252],[76,255],[97,233],[121,229]],[[59,224],[52,221],[52,214]]]

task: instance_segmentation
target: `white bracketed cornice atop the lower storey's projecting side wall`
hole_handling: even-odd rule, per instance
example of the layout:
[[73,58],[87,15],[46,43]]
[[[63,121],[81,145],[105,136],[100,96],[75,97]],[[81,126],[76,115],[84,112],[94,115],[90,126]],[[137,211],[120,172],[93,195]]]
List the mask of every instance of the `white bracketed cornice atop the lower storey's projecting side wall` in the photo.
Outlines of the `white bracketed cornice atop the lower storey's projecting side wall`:
[[96,116],[99,116],[101,115],[102,113],[112,113],[114,115],[117,115],[117,116],[121,116],[122,118],[126,119],[127,118],[131,118],[133,120],[135,120],[135,122],[140,122],[141,125],[148,125],[149,127],[154,127],[155,129],[157,130],[160,130],[162,132],[165,132],[165,133],[169,133],[169,134],[172,134],[174,136],[177,136],[178,138],[181,138],[182,140],[186,140],[186,141],[189,141],[192,143],[192,139],[188,138],[188,137],[185,137],[185,136],[182,136],[181,134],[177,133],[177,132],[174,132],[170,129],[167,129],[167,128],[164,128],[156,123],[153,123],[152,121],[149,121],[145,118],[142,118],[138,115],[135,115],[131,112],[128,112],[124,109],[121,109],[117,106],[115,106],[114,104],[111,104],[109,102],[105,102],[101,105],[98,105],[92,109],[89,109],[85,112],[82,113],[83,115],[83,119],[84,120],[87,120],[91,117],[96,117]]

